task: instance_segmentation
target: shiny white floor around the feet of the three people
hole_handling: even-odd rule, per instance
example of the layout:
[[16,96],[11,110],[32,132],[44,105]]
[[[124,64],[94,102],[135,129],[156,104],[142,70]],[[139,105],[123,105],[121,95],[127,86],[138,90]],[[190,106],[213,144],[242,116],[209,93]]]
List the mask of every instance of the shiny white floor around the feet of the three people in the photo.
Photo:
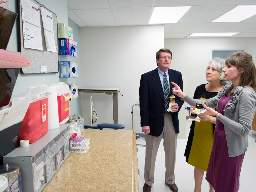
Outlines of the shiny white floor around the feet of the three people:
[[[191,121],[186,120],[186,139],[178,139],[176,165],[175,165],[175,183],[178,186],[179,192],[194,192],[194,167],[185,161],[184,151],[186,148],[188,134],[190,131]],[[256,132],[251,131],[248,136],[249,148],[245,153],[244,162],[240,174],[240,189],[239,192],[253,192],[256,191]],[[145,140],[137,139],[137,144],[145,144]],[[139,176],[139,191],[142,192],[144,185],[144,161],[145,161],[145,147],[138,147],[138,168],[140,170]],[[171,190],[165,184],[165,163],[164,163],[164,147],[163,141],[160,143],[155,165],[155,180],[151,187],[151,192],[170,192]],[[209,183],[205,180],[206,172],[202,183],[202,192],[209,191]]]

